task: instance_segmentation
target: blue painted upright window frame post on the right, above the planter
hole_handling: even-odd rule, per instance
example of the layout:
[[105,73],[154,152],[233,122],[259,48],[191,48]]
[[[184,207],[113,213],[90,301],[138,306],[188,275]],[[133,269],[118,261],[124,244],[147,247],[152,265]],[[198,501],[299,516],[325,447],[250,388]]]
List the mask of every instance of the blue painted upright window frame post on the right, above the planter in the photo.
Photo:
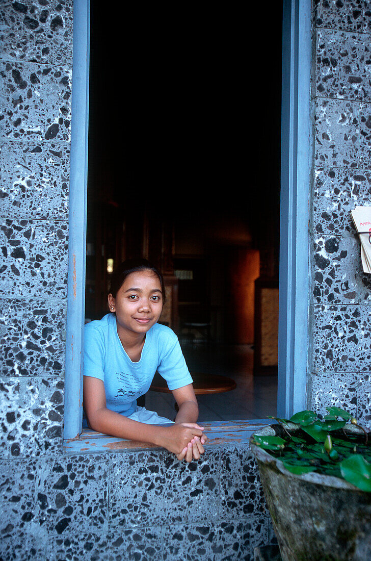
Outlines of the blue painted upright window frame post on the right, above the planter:
[[311,65],[312,2],[284,0],[277,413],[285,418],[307,408]]

